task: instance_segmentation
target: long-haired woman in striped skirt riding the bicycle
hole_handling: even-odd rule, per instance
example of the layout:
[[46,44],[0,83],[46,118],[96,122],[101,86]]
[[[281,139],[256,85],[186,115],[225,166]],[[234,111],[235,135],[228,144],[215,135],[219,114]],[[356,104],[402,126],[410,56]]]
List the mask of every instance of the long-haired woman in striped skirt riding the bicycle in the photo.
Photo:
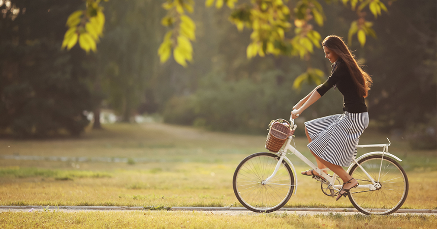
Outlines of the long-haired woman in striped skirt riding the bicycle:
[[[351,51],[340,37],[328,36],[322,42],[325,58],[332,65],[332,74],[322,85],[316,87],[305,98],[300,100],[291,112],[297,118],[306,108],[316,102],[329,89],[334,87],[343,95],[341,115],[333,115],[305,122],[305,133],[308,137],[308,149],[316,157],[320,169],[328,167],[343,180],[338,193],[347,196],[351,188],[358,186],[341,166],[349,166],[356,156],[356,146],[360,135],[367,128],[369,117],[364,98],[370,90],[371,78],[354,59]],[[315,170],[303,171],[302,175],[318,176]]]

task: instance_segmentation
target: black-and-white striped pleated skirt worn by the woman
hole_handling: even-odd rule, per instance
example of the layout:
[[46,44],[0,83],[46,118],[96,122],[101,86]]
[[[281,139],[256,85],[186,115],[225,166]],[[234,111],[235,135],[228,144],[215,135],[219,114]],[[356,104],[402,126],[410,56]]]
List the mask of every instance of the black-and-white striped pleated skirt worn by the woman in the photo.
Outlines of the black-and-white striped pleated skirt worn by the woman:
[[305,122],[308,149],[323,160],[339,166],[351,165],[357,156],[360,135],[369,125],[367,112],[332,115]]

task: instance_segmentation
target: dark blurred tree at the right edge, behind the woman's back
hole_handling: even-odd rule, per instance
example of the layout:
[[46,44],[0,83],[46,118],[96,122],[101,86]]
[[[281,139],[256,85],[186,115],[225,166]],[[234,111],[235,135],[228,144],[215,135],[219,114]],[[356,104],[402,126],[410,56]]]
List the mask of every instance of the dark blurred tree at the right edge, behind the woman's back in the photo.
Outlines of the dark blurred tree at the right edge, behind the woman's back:
[[372,119],[383,131],[406,129],[415,148],[436,148],[436,7],[426,0],[397,3],[375,26],[378,41],[364,50],[374,82],[367,101]]

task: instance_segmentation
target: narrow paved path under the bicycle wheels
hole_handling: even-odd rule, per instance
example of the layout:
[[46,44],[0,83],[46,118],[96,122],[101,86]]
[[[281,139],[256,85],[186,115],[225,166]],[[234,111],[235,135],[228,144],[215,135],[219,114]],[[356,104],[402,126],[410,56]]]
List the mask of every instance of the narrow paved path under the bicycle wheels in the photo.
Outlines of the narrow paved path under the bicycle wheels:
[[[0,212],[6,211],[44,211],[45,206],[0,206]],[[143,207],[117,207],[117,206],[49,206],[49,210],[59,210],[64,212],[76,212],[76,211],[132,211],[132,210],[145,210]],[[201,211],[213,214],[226,214],[226,215],[253,215],[259,214],[252,211],[248,211],[245,208],[231,208],[231,207],[171,207],[167,208],[169,211]],[[345,215],[361,214],[354,208],[282,208],[276,211],[277,214],[329,214],[329,213],[341,213]],[[426,214],[437,216],[437,210],[430,209],[399,209],[394,215],[399,214]]]

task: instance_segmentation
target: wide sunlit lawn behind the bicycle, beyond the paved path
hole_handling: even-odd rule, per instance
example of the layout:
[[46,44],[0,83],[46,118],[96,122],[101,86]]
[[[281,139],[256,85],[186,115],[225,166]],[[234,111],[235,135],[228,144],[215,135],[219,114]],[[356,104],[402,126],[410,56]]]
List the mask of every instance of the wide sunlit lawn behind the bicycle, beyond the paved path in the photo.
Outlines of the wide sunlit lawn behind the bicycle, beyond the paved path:
[[[232,175],[247,155],[264,149],[265,136],[208,132],[160,123],[115,124],[77,139],[0,140],[0,156],[70,157],[71,160],[12,160],[0,157],[0,205],[40,206],[241,206],[232,190]],[[366,135],[367,134],[367,135]],[[366,131],[361,144],[386,142]],[[402,208],[436,209],[435,151],[412,150],[392,140],[410,181]],[[296,147],[312,159],[306,139]],[[367,149],[368,150],[368,149]],[[371,149],[379,151],[381,149]],[[359,155],[365,153],[359,149]],[[125,158],[102,162],[74,158]],[[307,166],[289,156],[296,170]],[[114,160],[111,160],[114,161]],[[286,207],[352,208],[347,198],[335,202],[320,183],[298,176],[297,194]]]

